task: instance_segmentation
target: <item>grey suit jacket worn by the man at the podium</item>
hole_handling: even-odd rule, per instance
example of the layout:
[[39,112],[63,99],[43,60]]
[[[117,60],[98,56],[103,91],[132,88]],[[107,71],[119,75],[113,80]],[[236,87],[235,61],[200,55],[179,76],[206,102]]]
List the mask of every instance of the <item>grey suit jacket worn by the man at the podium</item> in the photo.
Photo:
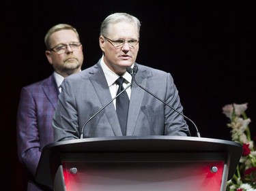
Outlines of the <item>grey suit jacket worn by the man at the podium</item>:
[[[182,112],[183,107],[171,74],[137,63],[135,65],[139,69],[135,76],[138,84]],[[113,103],[91,119],[81,132],[85,122],[112,99],[100,60],[93,67],[66,77],[62,85],[53,117],[55,141],[80,139],[81,133],[83,138],[122,136]],[[134,83],[126,135],[187,136],[190,132],[182,115]]]

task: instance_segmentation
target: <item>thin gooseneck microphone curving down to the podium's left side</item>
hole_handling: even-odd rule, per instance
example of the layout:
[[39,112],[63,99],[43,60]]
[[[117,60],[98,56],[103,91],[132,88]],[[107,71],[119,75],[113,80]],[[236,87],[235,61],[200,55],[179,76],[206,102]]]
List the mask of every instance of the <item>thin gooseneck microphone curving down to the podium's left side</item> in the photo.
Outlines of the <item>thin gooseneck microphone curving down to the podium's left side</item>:
[[[128,71],[129,70],[129,71]],[[130,86],[132,86],[133,82],[134,82],[134,76],[136,73],[134,73],[134,71],[132,71],[132,68],[126,68],[126,71],[128,71],[128,73],[130,73],[130,75],[132,75],[132,82],[126,87],[124,88],[124,90],[122,90],[121,92],[119,92],[119,94],[117,94],[115,97],[113,97],[113,99],[111,99],[111,101],[109,101],[108,103],[106,103],[106,105],[104,105],[102,108],[100,108],[100,110],[98,110],[93,116],[91,116],[91,118],[89,118],[82,126],[81,129],[81,133],[80,133],[80,139],[83,139],[83,129],[85,128],[86,124],[92,120],[95,116],[97,116],[100,111],[102,111],[106,106],[108,106],[111,102],[113,102],[115,99],[117,99],[117,97],[119,97],[120,94],[122,94],[122,92],[126,91]],[[131,74],[132,73],[132,74]]]

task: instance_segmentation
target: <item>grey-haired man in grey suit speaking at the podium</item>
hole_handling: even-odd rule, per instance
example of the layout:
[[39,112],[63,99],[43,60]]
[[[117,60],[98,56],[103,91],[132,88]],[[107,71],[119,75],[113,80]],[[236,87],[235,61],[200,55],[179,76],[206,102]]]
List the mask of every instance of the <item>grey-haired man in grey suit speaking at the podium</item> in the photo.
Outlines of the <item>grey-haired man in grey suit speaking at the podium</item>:
[[[111,14],[102,22],[99,37],[102,58],[93,67],[67,77],[63,82],[53,117],[55,141],[124,135],[190,136],[181,114],[137,84],[130,86],[132,75],[126,68],[137,67],[136,82],[182,113],[171,74],[135,62],[140,27],[140,21],[126,13]],[[130,102],[124,133],[119,123],[119,111],[116,111],[117,102],[113,99],[119,88],[116,80],[120,76],[125,79],[123,86],[127,88]],[[104,109],[100,111],[102,107]]]

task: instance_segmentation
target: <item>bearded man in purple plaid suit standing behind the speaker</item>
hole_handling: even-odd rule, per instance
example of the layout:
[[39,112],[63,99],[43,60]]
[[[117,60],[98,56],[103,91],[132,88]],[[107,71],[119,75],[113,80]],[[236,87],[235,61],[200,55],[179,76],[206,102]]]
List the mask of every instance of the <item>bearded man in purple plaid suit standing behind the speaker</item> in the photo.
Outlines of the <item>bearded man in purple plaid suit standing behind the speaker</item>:
[[33,179],[42,149],[53,142],[53,114],[64,77],[81,71],[83,47],[69,24],[57,24],[44,38],[46,57],[54,72],[45,80],[22,88],[17,114],[18,158],[29,174],[27,190],[51,190]]

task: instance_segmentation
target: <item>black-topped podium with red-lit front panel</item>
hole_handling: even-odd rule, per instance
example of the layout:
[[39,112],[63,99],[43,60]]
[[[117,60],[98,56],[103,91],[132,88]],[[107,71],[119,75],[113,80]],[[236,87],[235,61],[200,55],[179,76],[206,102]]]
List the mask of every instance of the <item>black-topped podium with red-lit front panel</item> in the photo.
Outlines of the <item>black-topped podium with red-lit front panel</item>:
[[55,191],[225,191],[241,156],[240,143],[220,139],[77,139],[46,145],[35,179]]

